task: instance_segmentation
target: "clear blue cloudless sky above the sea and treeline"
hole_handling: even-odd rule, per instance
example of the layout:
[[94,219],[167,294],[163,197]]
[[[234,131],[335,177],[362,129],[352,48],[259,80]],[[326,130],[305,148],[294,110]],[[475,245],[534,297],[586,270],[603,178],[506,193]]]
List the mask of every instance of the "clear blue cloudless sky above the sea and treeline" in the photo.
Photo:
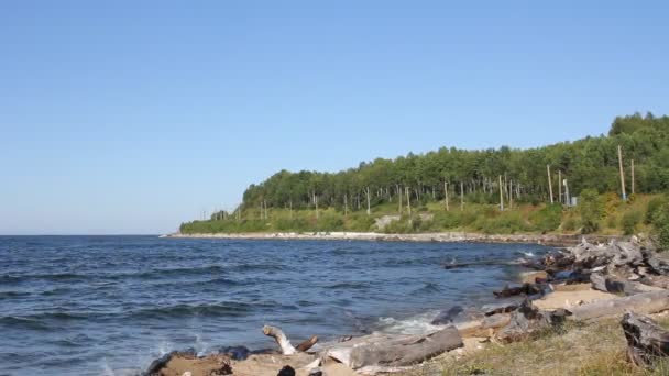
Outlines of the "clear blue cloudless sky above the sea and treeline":
[[163,233],[282,168],[669,113],[666,1],[0,1],[0,233]]

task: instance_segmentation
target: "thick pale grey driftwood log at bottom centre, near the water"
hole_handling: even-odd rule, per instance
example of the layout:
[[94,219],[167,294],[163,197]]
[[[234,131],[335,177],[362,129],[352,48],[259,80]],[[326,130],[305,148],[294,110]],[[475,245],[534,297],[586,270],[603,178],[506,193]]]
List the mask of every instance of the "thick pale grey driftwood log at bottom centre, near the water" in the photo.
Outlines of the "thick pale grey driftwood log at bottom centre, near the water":
[[462,345],[458,329],[448,327],[428,335],[374,333],[354,338],[326,349],[326,355],[353,369],[395,367],[416,364]]

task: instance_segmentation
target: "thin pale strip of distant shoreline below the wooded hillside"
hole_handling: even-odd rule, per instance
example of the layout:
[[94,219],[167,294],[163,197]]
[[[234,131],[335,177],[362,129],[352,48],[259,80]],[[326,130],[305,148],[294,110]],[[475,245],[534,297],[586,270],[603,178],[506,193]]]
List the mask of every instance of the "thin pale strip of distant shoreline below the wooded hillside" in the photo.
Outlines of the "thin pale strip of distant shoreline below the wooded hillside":
[[317,240],[317,241],[368,241],[368,242],[423,242],[423,243],[522,243],[547,246],[571,246],[585,237],[591,243],[607,243],[619,240],[617,235],[582,234],[482,234],[474,232],[435,232],[416,234],[386,234],[379,232],[249,232],[249,233],[172,233],[161,235],[172,239],[226,239],[226,240]]

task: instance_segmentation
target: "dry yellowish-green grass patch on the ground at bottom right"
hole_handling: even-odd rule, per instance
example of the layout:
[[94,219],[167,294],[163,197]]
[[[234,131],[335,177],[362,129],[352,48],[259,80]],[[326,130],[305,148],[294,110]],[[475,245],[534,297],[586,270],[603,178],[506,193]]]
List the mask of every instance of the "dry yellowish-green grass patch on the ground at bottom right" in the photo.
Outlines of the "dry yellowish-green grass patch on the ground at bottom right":
[[[665,327],[668,323],[666,318],[660,321]],[[437,358],[407,375],[669,375],[668,361],[658,363],[655,371],[629,364],[626,346],[618,320],[569,323],[562,331],[549,331],[534,340],[507,345],[487,343],[485,349],[462,358]]]

